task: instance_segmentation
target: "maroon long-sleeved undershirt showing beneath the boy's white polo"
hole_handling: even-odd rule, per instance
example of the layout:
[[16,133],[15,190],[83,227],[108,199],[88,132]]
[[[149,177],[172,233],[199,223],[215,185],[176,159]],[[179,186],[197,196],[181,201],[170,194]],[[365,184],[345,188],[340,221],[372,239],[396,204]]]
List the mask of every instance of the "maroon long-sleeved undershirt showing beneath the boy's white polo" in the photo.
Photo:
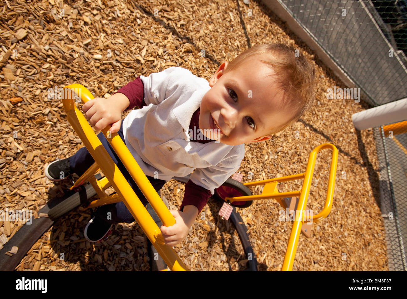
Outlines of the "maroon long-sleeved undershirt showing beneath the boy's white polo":
[[[144,102],[144,85],[143,82],[141,81],[140,77],[138,77],[136,80],[127,83],[127,85],[123,86],[120,88],[117,92],[114,94],[120,92],[121,94],[124,94],[129,98],[130,100],[130,105],[127,107],[127,110],[132,110],[135,107],[142,108],[144,106],[147,106],[147,104]],[[199,127],[199,108],[193,113],[191,122],[189,124],[189,128],[194,131],[194,127],[198,128]],[[207,143],[207,142],[212,142],[214,140],[210,139],[205,139],[205,140],[193,140],[191,138],[191,141],[194,142],[200,142],[200,143]],[[198,215],[201,212],[201,210],[204,208],[206,203],[208,203],[208,199],[212,194],[210,193],[209,190],[198,186],[195,184],[193,181],[189,180],[186,185],[185,185],[185,194],[184,194],[184,200],[182,201],[181,207],[179,207],[179,210],[183,212],[184,206],[186,205],[194,205],[198,209]]]

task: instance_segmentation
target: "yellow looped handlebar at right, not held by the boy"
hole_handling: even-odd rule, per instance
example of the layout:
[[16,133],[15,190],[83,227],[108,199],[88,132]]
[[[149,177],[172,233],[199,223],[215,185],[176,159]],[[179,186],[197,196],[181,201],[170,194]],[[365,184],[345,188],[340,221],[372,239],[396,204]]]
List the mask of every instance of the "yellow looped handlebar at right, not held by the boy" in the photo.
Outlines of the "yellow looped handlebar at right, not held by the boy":
[[[333,144],[321,144],[317,146],[309,155],[307,168],[305,171],[304,182],[302,184],[301,195],[297,205],[298,218],[295,217],[293,221],[293,227],[291,229],[291,234],[288,240],[287,251],[285,252],[284,261],[282,264],[282,271],[291,271],[294,263],[295,252],[297,251],[298,239],[300,238],[303,214],[305,212],[306,202],[308,199],[309,189],[311,186],[312,176],[315,167],[315,161],[317,158],[317,153],[324,148],[332,148],[332,159],[330,164],[330,173],[328,179],[328,191],[326,195],[326,201],[324,209],[321,213],[313,216],[315,220],[321,220],[326,217],[332,206],[333,190],[335,186],[335,175],[338,161],[338,150]],[[295,213],[297,215],[297,213]]]

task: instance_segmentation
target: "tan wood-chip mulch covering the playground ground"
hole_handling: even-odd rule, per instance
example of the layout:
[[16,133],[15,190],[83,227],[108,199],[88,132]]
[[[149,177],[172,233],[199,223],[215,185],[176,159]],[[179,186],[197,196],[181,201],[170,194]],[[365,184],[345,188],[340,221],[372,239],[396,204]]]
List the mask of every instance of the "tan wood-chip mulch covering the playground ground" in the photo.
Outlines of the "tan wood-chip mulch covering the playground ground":
[[[49,162],[83,147],[61,101],[48,99],[48,88],[80,83],[94,96],[108,97],[141,74],[173,65],[209,80],[222,61],[249,45],[285,41],[314,63],[317,101],[312,111],[271,140],[246,145],[242,182],[304,172],[313,148],[335,144],[339,159],[332,210],[313,225],[311,238],[300,236],[293,270],[388,270],[374,137],[372,130],[356,131],[351,120],[368,106],[328,100],[328,88],[346,86],[274,13],[261,2],[240,0],[80,3],[0,0],[1,210],[38,211],[70,186],[69,180],[54,184],[44,177]],[[308,201],[314,214],[324,206],[329,162],[330,151],[322,151]],[[281,183],[279,191],[300,190],[301,182]],[[260,194],[262,188],[252,191]],[[168,181],[161,195],[177,209],[184,184]],[[205,218],[198,217],[186,240],[175,247],[193,271],[246,268],[239,236],[217,215],[219,208],[211,201]],[[279,221],[280,210],[271,199],[239,209],[259,270],[281,270],[291,223]],[[84,205],[59,218],[16,270],[149,270],[146,237],[137,223],[118,224],[106,242],[91,244],[83,238],[89,220]],[[0,221],[0,247],[21,226],[22,221]]]

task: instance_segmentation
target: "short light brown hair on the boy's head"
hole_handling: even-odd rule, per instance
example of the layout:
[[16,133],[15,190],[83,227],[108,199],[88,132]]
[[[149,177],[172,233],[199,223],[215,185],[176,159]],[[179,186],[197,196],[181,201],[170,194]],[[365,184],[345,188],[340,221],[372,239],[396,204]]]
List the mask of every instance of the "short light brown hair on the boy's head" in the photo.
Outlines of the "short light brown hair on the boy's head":
[[[263,44],[253,46],[235,57],[225,73],[237,68],[247,58],[261,56],[260,61],[267,63],[276,73],[276,82],[284,91],[284,105],[289,105],[297,113],[282,127],[274,128],[267,135],[284,130],[296,122],[304,113],[311,109],[315,100],[313,84],[315,68],[309,63],[302,51],[290,44]],[[264,59],[265,58],[265,59]]]

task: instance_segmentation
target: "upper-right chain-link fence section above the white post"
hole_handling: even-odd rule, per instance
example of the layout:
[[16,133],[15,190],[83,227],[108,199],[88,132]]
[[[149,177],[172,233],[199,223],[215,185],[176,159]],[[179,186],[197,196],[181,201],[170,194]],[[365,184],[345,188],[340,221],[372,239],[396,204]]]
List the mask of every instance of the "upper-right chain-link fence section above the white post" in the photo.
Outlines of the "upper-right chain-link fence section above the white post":
[[407,0],[278,0],[378,106],[407,97]]

